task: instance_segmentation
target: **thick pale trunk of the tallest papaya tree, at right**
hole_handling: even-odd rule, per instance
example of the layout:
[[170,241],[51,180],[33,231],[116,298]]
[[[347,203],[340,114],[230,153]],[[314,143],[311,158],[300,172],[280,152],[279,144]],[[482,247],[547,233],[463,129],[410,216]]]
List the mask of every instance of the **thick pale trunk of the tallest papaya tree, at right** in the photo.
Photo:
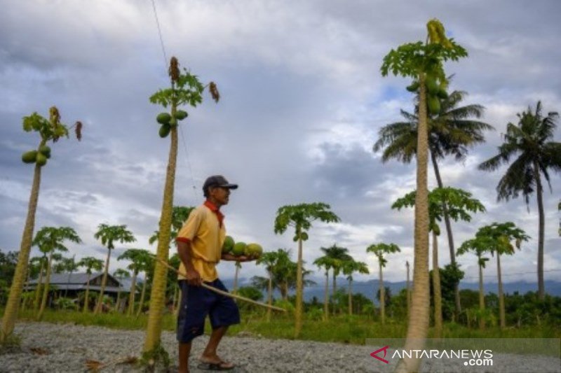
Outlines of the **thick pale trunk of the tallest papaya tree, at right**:
[[[424,348],[430,313],[428,282],[428,125],[424,73],[419,74],[419,128],[417,136],[417,193],[415,197],[413,295],[405,350]],[[396,372],[418,372],[421,360],[403,358]]]

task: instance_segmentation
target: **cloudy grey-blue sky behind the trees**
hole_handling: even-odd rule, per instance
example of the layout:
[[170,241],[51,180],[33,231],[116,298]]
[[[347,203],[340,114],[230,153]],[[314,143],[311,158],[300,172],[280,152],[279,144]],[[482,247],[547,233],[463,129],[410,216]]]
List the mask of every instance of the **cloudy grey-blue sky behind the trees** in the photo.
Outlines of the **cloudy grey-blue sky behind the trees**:
[[[371,279],[377,262],[365,248],[394,242],[402,253],[388,257],[384,276],[405,280],[412,210],[390,206],[415,188],[415,166],[382,164],[372,144],[383,125],[400,120],[400,108],[412,111],[412,95],[404,89],[408,80],[383,78],[379,69],[391,48],[424,40],[432,17],[469,52],[445,66],[455,74],[452,90],[469,92],[465,103],[485,106],[483,120],[496,128],[464,162],[441,164],[446,185],[468,190],[487,207],[471,223],[454,223],[456,246],[495,221],[511,220],[537,237],[535,197],[529,212],[520,198],[496,202],[505,168],[490,173],[477,165],[496,153],[516,113],[538,100],[544,113],[561,111],[558,1],[154,4],[164,48],[150,0],[0,0],[0,250],[19,250],[33,172],[20,157],[39,142],[37,134],[22,131],[21,118],[34,111],[48,116],[56,105],[63,122],[84,123],[83,140],[54,144],[43,169],[36,230],[74,227],[84,241],[70,246],[76,259],[104,258],[107,249],[93,237],[100,223],[125,224],[137,239],[116,248],[114,259],[131,247],[155,251],[148,238],[160,216],[169,137],[159,138],[155,117],[162,109],[148,98],[168,85],[165,50],[203,82],[217,82],[222,94],[219,104],[207,96],[187,108],[175,205],[200,204],[204,179],[224,174],[240,185],[224,206],[229,234],[265,250],[295,253],[291,233],[273,233],[277,209],[325,202],[342,221],[313,226],[304,246],[308,267],[321,246],[338,244],[373,273],[356,279]],[[561,141],[561,128],[555,141]],[[553,192],[544,195],[545,276],[561,280],[561,178],[553,171],[551,184]],[[429,187],[434,185],[430,171]],[[450,255],[445,235],[440,241],[443,265]],[[536,281],[536,246],[532,239],[504,258],[504,281]],[[466,280],[477,281],[475,256],[459,262]],[[113,260],[111,272],[127,264]],[[495,281],[494,268],[485,269],[488,281]],[[234,265],[222,262],[219,272],[233,276]],[[264,271],[243,265],[241,276],[254,274]]]

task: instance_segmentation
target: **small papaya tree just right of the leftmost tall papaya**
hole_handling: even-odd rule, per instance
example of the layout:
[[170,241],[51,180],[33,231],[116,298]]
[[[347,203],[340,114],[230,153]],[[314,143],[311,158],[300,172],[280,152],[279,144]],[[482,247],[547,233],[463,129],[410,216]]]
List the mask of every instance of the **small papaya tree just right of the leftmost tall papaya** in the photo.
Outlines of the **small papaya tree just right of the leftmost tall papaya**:
[[47,304],[50,269],[53,265],[53,255],[55,254],[55,251],[68,251],[68,248],[63,244],[64,241],[71,241],[75,244],[81,244],[82,242],[76,231],[71,227],[42,227],[33,239],[34,246],[39,246],[39,250],[41,250],[41,252],[48,253],[45,287],[43,289],[41,307],[39,308],[39,313],[36,316],[37,321],[41,321]]

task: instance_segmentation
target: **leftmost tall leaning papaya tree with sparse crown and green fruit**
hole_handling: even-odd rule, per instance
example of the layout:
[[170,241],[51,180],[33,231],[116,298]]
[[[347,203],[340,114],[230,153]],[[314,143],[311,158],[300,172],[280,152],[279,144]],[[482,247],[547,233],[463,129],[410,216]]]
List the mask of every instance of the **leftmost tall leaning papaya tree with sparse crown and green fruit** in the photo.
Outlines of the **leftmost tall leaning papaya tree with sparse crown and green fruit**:
[[[82,123],[76,122],[72,126],[76,130],[76,138],[81,139]],[[60,113],[56,106],[49,109],[49,118],[43,118],[37,113],[23,117],[23,130],[25,132],[38,132],[39,145],[34,150],[29,150],[22,155],[22,161],[27,164],[34,164],[34,173],[31,194],[29,195],[29,205],[27,206],[27,218],[22,233],[22,241],[20,244],[20,253],[18,254],[18,265],[15,267],[10,295],[4,316],[2,317],[2,326],[0,328],[0,344],[8,341],[15,327],[15,320],[18,318],[18,308],[20,305],[20,297],[27,275],[27,264],[29,262],[29,253],[31,252],[33,233],[35,228],[35,212],[37,210],[37,202],[39,201],[39,187],[41,185],[41,169],[46,165],[50,158],[50,147],[47,145],[58,141],[61,137],[68,137],[69,127],[60,122]]]

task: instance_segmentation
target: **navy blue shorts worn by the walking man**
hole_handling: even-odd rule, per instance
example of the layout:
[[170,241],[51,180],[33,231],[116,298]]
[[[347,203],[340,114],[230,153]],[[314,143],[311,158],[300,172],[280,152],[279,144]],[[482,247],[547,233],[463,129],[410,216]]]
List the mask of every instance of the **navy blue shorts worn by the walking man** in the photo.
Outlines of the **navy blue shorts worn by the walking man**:
[[[205,283],[219,290],[228,291],[219,279]],[[232,298],[202,286],[191,286],[187,280],[179,281],[179,286],[181,288],[181,307],[177,315],[178,342],[188,343],[202,335],[207,315],[213,330],[240,323],[240,311]]]

